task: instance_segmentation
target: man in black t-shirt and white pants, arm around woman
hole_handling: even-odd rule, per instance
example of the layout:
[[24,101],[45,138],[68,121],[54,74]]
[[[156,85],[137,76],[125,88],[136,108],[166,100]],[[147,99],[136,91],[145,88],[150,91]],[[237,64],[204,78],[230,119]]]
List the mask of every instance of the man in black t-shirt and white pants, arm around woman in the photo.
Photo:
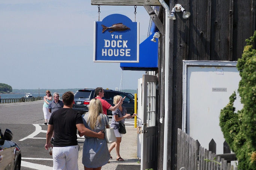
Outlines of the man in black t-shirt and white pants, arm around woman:
[[62,95],[64,107],[53,112],[48,123],[45,149],[52,147],[50,143],[54,131],[54,147],[52,148],[53,170],[78,170],[77,129],[82,135],[104,139],[104,133],[93,132],[84,126],[81,114],[72,109],[74,94],[66,92]]

